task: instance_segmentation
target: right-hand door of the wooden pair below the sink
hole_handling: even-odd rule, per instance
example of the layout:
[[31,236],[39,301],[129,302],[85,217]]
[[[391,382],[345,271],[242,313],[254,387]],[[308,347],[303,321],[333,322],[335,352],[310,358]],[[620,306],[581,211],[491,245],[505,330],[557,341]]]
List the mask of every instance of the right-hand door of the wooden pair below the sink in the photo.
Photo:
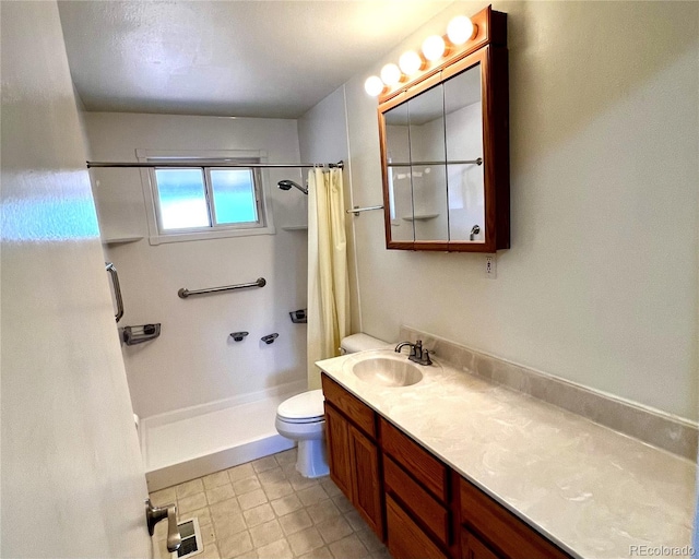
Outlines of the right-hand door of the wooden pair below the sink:
[[377,536],[383,540],[379,450],[374,442],[350,426],[350,452],[355,468],[354,506]]

